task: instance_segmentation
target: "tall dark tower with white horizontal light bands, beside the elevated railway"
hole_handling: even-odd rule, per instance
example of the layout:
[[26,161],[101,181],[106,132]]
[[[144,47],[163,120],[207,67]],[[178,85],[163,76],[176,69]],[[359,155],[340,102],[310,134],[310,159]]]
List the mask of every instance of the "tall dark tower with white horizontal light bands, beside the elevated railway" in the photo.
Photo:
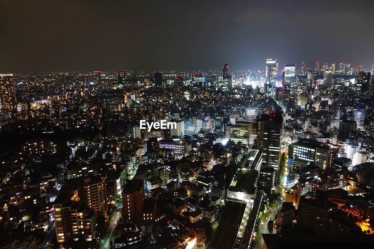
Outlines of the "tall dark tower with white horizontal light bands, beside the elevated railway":
[[266,114],[258,120],[257,147],[263,148],[263,162],[266,167],[278,171],[281,147],[283,117],[278,113]]

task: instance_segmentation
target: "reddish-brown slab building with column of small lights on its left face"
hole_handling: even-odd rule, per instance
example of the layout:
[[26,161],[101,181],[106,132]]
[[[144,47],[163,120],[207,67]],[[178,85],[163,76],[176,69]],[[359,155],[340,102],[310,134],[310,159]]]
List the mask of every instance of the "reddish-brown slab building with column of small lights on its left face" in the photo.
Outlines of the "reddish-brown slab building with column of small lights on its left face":
[[123,219],[126,223],[135,224],[142,221],[144,204],[144,180],[128,180],[122,192]]

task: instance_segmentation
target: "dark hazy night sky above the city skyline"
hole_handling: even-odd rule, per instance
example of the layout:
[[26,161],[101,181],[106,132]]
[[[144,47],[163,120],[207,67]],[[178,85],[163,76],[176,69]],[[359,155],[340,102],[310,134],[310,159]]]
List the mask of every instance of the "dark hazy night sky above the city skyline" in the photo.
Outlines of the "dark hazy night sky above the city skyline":
[[0,0],[0,73],[374,64],[374,1]]

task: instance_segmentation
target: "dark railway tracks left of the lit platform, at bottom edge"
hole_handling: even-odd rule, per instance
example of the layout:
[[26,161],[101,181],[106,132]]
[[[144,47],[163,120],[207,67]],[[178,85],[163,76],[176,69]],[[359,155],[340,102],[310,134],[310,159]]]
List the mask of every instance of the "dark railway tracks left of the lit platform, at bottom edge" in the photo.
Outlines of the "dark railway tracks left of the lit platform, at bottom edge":
[[238,202],[228,202],[222,214],[217,230],[208,248],[227,249],[233,248],[242,222],[245,204]]

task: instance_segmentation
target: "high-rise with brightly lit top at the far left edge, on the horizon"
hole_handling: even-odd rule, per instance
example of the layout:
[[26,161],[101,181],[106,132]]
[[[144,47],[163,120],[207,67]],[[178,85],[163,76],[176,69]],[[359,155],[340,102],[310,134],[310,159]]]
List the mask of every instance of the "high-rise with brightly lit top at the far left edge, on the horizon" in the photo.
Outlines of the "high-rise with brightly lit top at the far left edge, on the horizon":
[[17,110],[13,74],[0,74],[0,109]]

